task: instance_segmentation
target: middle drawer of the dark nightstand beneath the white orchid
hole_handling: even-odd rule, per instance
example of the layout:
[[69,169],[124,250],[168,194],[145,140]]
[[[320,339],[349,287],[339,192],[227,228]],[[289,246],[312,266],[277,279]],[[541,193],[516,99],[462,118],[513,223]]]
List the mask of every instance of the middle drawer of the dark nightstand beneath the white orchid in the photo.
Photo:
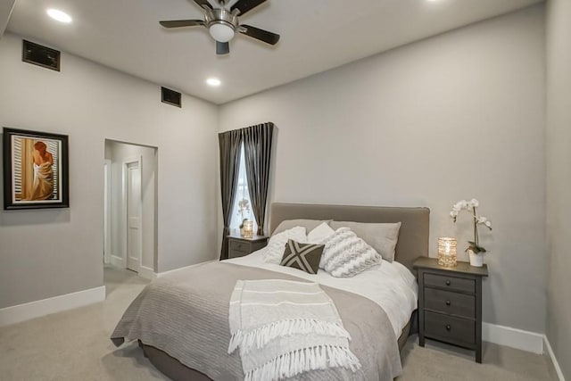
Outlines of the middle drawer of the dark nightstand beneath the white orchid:
[[476,297],[425,287],[427,310],[476,319]]

